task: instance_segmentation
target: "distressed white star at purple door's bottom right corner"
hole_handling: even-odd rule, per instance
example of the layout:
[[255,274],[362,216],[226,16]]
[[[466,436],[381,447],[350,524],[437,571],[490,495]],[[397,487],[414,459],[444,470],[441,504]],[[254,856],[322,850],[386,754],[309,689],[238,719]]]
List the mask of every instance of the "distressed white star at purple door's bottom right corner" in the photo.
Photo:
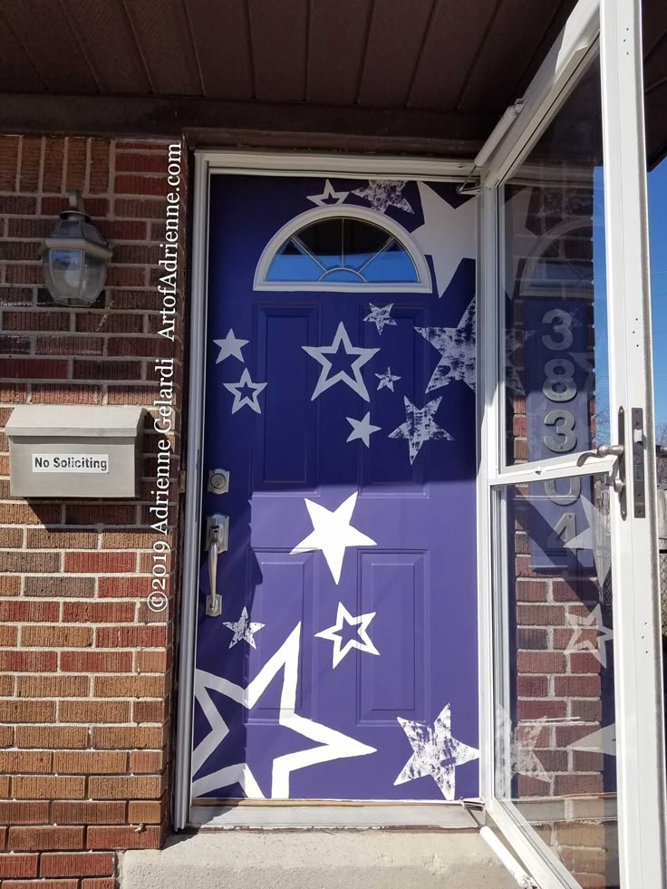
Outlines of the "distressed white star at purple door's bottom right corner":
[[400,716],[397,719],[410,741],[413,752],[403,766],[401,774],[393,782],[394,787],[430,775],[442,791],[442,796],[445,799],[453,799],[456,767],[472,759],[478,759],[479,750],[452,738],[449,704],[443,708],[433,725],[402,720]]

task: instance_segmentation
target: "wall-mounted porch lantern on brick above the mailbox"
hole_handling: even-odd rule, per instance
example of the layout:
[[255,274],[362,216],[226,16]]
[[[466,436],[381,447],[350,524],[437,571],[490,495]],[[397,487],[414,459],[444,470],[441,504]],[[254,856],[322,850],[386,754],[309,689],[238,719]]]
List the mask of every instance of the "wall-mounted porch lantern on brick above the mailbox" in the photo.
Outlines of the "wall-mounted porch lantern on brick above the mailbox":
[[70,191],[69,198],[69,209],[44,241],[44,284],[56,303],[92,305],[106,280],[111,247],[83,212],[81,192]]

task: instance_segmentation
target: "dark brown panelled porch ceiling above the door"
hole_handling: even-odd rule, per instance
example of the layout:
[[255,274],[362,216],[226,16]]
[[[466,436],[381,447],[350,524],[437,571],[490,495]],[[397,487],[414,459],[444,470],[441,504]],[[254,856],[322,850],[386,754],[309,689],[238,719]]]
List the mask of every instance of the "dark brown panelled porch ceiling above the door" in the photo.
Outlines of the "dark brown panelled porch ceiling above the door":
[[[39,96],[133,97],[125,131],[217,126],[484,140],[574,0],[0,0],[0,126],[57,129]],[[23,105],[11,95],[32,96]],[[189,100],[189,101],[185,101]],[[220,104],[220,103],[223,104]],[[230,105],[232,107],[230,107]],[[281,113],[276,113],[279,106]],[[296,107],[314,119],[291,119]],[[102,123],[68,101],[61,126]],[[121,131],[118,106],[111,121]],[[354,116],[347,121],[341,111]],[[391,110],[390,117],[378,110]],[[334,112],[328,114],[327,110]],[[366,115],[362,114],[366,111]],[[170,112],[170,113],[169,113]],[[397,116],[398,115],[398,116]],[[17,121],[18,116],[18,121]],[[437,146],[429,146],[437,149]],[[443,150],[446,146],[443,144]],[[449,146],[456,150],[456,146]]]

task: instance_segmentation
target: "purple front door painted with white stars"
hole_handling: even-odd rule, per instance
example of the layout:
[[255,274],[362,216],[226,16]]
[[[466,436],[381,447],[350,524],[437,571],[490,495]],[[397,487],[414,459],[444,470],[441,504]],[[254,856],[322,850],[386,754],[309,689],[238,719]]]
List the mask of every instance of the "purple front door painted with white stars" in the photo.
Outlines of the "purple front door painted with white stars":
[[[475,210],[211,179],[193,797],[478,794]],[[208,491],[213,469],[228,491]]]

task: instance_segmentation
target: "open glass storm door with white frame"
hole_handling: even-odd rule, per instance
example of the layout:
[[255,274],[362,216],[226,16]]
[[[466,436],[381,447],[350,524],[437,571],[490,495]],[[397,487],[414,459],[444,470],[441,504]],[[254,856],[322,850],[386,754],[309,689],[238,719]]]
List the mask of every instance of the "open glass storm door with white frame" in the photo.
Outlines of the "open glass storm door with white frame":
[[576,7],[482,183],[482,783],[544,887],[665,885],[637,7]]

